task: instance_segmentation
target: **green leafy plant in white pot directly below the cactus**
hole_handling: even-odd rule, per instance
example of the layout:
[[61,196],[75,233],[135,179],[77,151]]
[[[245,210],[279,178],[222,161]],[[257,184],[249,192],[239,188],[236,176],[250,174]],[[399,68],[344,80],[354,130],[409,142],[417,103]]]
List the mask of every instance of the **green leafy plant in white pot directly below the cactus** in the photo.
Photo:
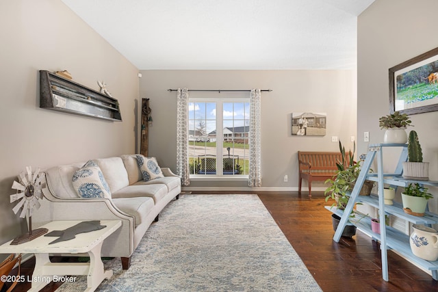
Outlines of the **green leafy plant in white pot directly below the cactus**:
[[410,183],[402,192],[402,203],[404,213],[414,216],[424,216],[427,200],[433,198],[426,187],[419,183]]

